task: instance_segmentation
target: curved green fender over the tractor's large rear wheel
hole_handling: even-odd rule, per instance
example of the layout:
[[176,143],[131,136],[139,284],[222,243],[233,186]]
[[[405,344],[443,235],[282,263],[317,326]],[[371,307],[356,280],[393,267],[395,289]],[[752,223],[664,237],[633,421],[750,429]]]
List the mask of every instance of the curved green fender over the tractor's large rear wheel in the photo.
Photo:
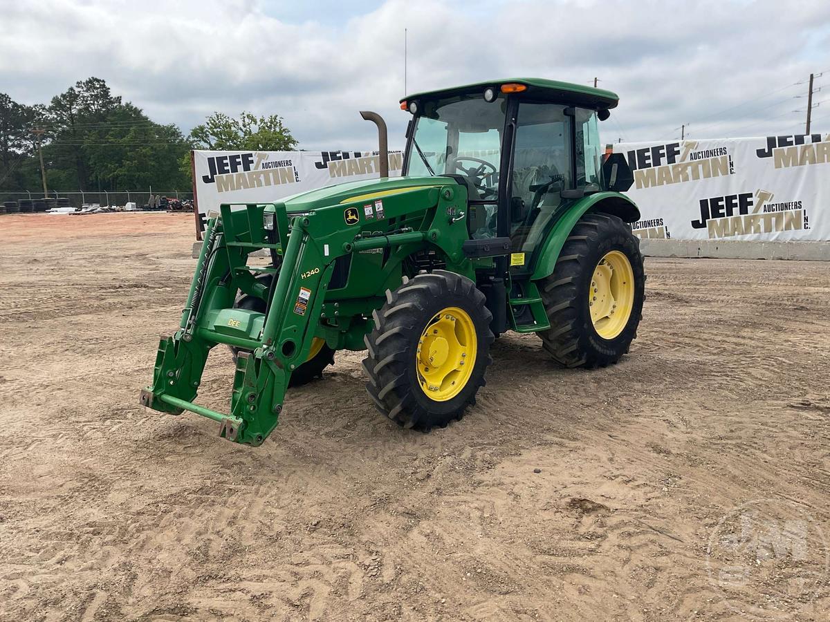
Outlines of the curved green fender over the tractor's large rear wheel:
[[553,274],[556,260],[559,259],[559,253],[570,232],[583,214],[589,210],[619,216],[625,222],[640,220],[640,210],[637,205],[619,192],[597,192],[579,199],[565,208],[549,231],[540,250],[536,253],[533,273],[530,275],[531,280],[544,279]]

